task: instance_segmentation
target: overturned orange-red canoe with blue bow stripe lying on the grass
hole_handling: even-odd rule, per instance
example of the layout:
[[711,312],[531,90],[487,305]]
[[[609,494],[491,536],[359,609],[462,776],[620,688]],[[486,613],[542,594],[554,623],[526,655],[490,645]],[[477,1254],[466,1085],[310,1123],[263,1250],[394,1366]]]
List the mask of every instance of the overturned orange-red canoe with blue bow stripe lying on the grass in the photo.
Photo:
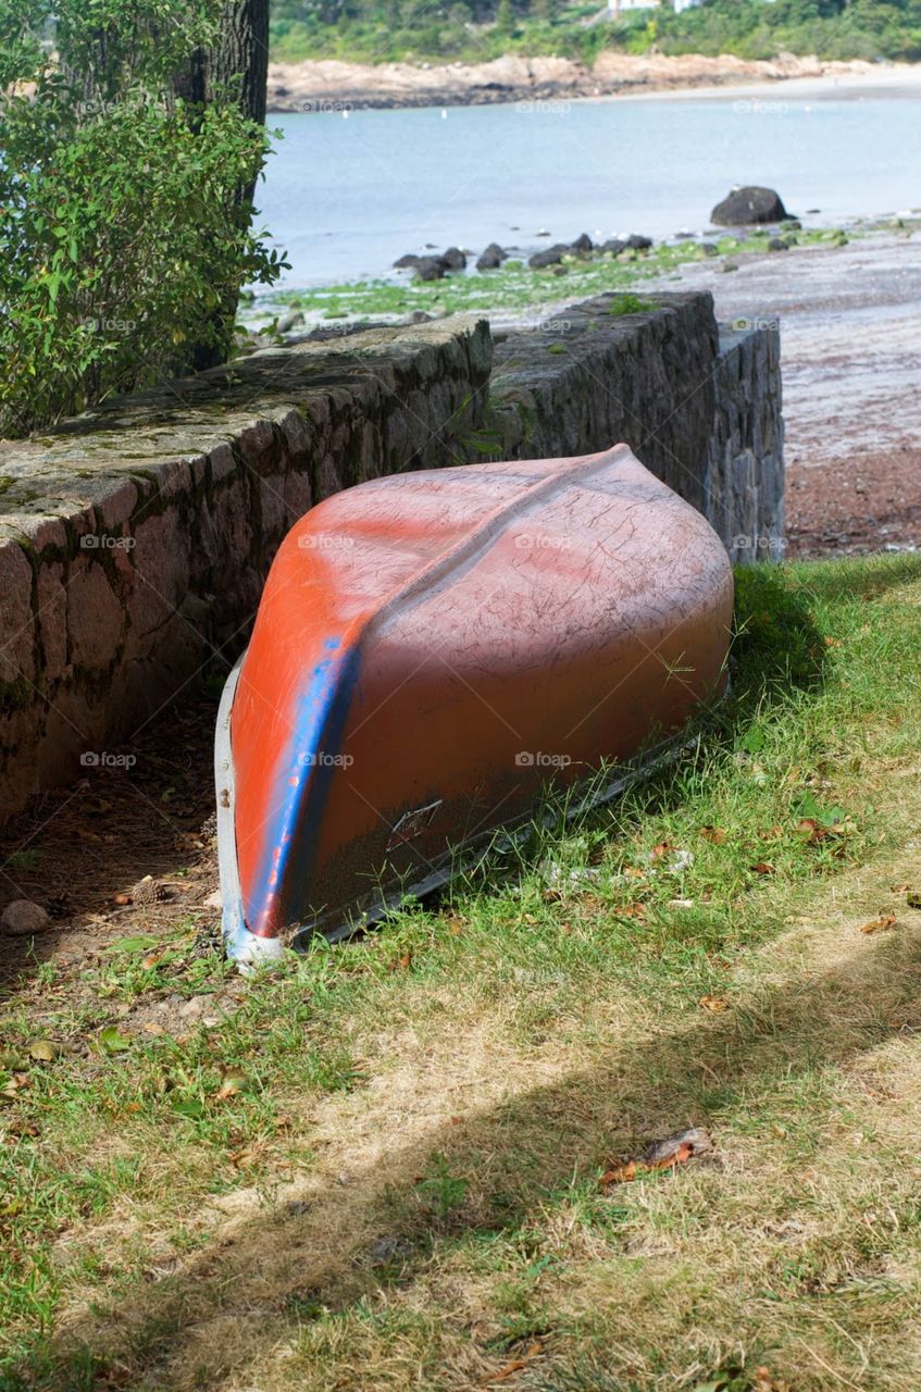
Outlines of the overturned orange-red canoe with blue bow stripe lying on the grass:
[[548,781],[652,757],[719,692],[730,611],[716,535],[626,445],[319,504],[218,715],[231,955],[339,937],[527,821]]

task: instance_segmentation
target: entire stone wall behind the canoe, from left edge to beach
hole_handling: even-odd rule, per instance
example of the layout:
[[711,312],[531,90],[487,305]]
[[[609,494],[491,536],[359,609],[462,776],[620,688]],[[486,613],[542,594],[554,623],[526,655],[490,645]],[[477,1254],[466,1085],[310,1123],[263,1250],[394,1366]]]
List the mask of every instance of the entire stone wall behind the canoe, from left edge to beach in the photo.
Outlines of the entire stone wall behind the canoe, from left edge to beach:
[[779,539],[779,411],[771,330],[608,295],[495,345],[458,317],[267,349],[0,443],[0,816],[223,675],[281,537],[338,489],[626,441],[733,548]]

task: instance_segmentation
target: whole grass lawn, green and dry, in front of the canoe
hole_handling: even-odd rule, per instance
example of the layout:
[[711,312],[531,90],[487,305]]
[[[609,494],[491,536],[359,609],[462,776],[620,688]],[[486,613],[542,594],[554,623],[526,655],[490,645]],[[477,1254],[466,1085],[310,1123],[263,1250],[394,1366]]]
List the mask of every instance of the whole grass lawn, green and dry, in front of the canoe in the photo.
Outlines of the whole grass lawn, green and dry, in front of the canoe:
[[623,800],[273,976],[26,970],[0,1388],[917,1392],[920,656],[921,557],[743,571]]

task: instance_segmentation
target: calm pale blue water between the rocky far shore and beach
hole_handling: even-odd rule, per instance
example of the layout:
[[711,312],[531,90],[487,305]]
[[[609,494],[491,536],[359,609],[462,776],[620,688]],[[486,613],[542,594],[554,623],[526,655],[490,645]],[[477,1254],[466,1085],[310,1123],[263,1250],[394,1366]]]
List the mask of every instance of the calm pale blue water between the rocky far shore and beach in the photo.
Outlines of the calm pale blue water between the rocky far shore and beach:
[[257,203],[289,287],[384,274],[426,242],[481,249],[703,230],[733,184],[817,223],[921,203],[921,100],[545,102],[275,116]]

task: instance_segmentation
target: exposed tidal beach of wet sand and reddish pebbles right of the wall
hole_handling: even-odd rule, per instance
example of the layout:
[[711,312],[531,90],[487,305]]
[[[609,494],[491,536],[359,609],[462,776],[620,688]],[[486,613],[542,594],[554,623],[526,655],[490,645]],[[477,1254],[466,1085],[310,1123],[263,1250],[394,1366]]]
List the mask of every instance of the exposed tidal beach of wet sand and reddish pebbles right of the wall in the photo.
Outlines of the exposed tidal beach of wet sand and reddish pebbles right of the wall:
[[[779,320],[787,555],[921,546],[921,232],[693,266],[721,322]],[[675,288],[675,281],[669,281]]]

